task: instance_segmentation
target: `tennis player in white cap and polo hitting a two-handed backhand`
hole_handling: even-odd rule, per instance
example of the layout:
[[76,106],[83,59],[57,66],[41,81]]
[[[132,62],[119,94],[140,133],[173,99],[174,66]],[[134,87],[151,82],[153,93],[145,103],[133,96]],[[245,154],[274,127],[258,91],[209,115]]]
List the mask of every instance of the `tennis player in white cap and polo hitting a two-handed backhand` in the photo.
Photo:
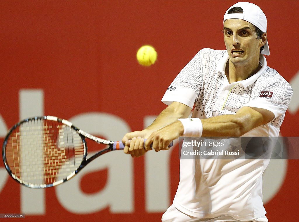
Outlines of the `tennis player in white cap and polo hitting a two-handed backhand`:
[[[125,153],[143,155],[150,144],[167,150],[180,136],[279,135],[292,88],[267,66],[266,16],[257,5],[239,2],[223,22],[226,50],[205,48],[195,55],[166,90],[162,102],[168,107],[149,127],[123,137]],[[162,221],[267,222],[262,174],[268,163],[181,159],[179,186]]]

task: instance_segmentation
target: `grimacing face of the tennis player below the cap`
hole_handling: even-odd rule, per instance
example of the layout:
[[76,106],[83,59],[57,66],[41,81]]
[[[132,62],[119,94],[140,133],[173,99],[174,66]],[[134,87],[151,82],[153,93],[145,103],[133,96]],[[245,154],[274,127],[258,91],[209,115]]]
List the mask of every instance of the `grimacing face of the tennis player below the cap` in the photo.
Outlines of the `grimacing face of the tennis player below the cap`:
[[254,26],[242,19],[225,20],[224,42],[230,62],[243,66],[258,61],[260,47],[264,45],[261,39],[257,39]]

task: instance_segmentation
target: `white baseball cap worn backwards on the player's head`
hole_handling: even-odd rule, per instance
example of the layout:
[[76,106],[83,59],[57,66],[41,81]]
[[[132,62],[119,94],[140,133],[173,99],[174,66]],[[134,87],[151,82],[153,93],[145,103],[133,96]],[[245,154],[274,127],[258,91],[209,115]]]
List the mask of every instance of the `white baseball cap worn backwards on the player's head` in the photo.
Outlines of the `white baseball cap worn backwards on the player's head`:
[[[230,10],[233,7],[240,7],[243,9],[243,13],[230,13],[228,14],[228,10]],[[259,28],[262,32],[267,32],[267,18],[265,13],[255,4],[249,3],[249,2],[238,2],[231,6],[225,12],[223,24],[226,19],[242,19],[247,22],[250,22],[251,24],[255,25],[257,28]],[[264,50],[261,52],[264,55],[270,55],[269,50],[269,44],[268,40],[264,46]]]

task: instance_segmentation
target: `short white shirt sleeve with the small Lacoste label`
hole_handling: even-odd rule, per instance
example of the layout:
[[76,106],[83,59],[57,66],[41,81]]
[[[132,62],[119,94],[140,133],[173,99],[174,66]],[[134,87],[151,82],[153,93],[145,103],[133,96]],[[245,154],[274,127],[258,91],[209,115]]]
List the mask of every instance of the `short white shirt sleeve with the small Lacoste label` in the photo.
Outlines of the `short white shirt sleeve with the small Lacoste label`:
[[[202,51],[202,50],[201,50]],[[201,51],[199,51],[176,76],[166,90],[162,102],[181,102],[193,108],[202,86]]]

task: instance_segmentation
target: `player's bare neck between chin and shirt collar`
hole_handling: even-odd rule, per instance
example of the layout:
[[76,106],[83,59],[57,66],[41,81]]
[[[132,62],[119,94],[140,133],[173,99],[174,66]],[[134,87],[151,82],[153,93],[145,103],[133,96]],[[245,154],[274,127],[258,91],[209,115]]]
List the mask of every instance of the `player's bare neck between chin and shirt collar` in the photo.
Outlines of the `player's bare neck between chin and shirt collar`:
[[228,82],[232,83],[249,78],[257,73],[261,68],[262,66],[260,65],[259,59],[245,66],[242,64],[233,64],[230,60],[228,60],[225,67],[225,75],[228,78]]

